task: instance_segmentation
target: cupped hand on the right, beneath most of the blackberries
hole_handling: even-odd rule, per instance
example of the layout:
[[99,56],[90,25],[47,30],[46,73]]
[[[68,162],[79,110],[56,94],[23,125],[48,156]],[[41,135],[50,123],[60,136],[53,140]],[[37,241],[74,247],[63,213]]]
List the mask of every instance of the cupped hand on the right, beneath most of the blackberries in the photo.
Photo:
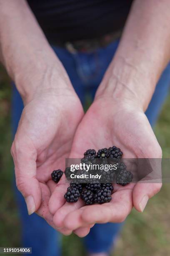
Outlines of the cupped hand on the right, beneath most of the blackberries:
[[[124,158],[161,158],[162,152],[152,128],[141,108],[132,101],[115,101],[98,97],[87,111],[75,133],[71,158],[81,158],[87,148],[99,149],[116,145]],[[154,149],[154,150],[153,150]],[[60,183],[60,182],[59,182]],[[53,223],[59,228],[83,228],[83,236],[95,223],[122,222],[133,206],[142,212],[148,199],[161,188],[159,183],[115,184],[112,201],[103,205],[83,206],[81,200],[65,204],[57,210]],[[57,198],[54,198],[57,202]],[[86,229],[85,229],[86,228]]]

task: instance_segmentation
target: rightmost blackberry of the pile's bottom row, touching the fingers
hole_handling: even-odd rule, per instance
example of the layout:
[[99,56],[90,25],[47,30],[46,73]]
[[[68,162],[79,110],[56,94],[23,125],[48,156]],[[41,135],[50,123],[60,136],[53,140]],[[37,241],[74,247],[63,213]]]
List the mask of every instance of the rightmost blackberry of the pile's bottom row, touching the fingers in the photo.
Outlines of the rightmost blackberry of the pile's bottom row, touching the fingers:
[[111,194],[111,190],[107,187],[98,189],[97,193],[94,195],[94,202],[98,204],[110,202],[112,200]]

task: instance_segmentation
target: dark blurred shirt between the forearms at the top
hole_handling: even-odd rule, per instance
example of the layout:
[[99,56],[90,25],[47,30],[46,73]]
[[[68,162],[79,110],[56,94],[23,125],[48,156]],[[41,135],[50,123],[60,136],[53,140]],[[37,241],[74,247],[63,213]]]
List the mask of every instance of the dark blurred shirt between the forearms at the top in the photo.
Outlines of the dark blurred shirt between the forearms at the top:
[[132,0],[28,0],[50,43],[98,38],[123,28]]

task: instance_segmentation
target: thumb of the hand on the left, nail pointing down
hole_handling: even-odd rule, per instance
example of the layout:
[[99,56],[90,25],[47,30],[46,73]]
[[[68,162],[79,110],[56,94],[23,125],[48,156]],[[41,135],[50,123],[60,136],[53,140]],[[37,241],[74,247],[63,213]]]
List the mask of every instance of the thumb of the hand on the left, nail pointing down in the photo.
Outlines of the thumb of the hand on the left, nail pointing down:
[[15,138],[11,154],[15,165],[16,185],[25,198],[28,214],[30,215],[41,204],[41,188],[36,179],[37,151],[32,141],[25,136],[22,140]]

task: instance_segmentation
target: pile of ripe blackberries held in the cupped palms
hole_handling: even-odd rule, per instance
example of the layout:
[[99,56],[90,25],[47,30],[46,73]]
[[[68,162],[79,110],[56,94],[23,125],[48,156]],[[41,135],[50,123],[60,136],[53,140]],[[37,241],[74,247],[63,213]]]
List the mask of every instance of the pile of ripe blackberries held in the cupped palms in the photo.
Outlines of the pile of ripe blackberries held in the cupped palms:
[[[110,148],[99,149],[96,153],[95,149],[88,149],[84,153],[84,157],[81,159],[82,163],[90,164],[95,159],[113,159],[116,161],[117,170],[115,172],[116,183],[122,186],[129,184],[133,180],[133,174],[126,170],[126,165],[120,161],[122,158],[122,151],[116,146]],[[70,168],[65,169],[65,176],[67,177],[70,172]],[[55,170],[52,172],[52,180],[56,183],[59,182],[63,172]],[[112,174],[111,174],[112,175]],[[79,197],[85,202],[86,205],[92,205],[94,203],[103,204],[112,200],[113,186],[111,183],[100,183],[97,180],[93,180],[90,183],[77,183],[70,182],[70,187],[67,188],[67,192],[64,198],[67,202],[77,202]]]

